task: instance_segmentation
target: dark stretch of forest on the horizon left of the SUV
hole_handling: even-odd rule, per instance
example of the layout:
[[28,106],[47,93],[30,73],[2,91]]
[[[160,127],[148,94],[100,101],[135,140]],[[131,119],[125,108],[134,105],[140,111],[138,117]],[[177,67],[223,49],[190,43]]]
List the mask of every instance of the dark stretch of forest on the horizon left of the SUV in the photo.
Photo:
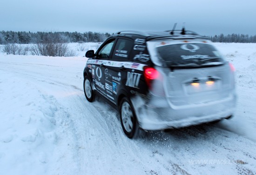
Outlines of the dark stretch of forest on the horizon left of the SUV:
[[14,32],[14,31],[0,31],[0,44],[36,44],[45,41],[48,36],[58,38],[61,43],[70,42],[103,42],[111,34],[97,33],[97,32]]

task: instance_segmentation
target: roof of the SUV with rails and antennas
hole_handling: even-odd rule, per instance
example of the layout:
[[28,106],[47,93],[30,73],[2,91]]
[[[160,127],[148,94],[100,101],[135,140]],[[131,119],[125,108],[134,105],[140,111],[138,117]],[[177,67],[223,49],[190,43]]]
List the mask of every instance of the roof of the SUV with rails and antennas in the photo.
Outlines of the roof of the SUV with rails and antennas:
[[166,30],[163,32],[143,32],[143,31],[135,31],[135,30],[127,30],[127,31],[119,31],[112,35],[111,37],[128,37],[131,39],[144,39],[148,40],[159,40],[159,39],[209,39],[206,36],[201,36],[196,34],[193,31],[185,31],[185,30]]

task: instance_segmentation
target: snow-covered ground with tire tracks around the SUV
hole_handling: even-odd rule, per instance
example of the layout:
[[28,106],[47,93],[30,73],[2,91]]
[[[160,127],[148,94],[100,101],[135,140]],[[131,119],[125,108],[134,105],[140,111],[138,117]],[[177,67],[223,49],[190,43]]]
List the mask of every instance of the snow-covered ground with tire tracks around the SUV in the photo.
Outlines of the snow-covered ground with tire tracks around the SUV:
[[256,44],[215,45],[236,67],[234,118],[138,140],[113,108],[86,101],[82,48],[70,58],[0,54],[0,174],[256,175]]

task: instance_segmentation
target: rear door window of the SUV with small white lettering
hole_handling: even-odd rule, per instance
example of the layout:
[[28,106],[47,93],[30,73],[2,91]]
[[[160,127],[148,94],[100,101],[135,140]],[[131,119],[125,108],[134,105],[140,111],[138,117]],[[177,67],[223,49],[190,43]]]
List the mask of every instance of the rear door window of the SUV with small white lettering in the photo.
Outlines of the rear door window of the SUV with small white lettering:
[[113,60],[128,60],[134,42],[120,38],[115,45]]

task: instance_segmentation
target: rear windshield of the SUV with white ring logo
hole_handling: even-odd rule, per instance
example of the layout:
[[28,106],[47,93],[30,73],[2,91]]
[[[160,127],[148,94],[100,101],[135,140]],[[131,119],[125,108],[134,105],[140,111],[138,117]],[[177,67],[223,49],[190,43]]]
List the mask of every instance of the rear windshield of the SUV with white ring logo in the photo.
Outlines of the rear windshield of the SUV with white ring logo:
[[156,46],[156,51],[163,66],[202,67],[224,63],[219,52],[210,44],[162,42]]

